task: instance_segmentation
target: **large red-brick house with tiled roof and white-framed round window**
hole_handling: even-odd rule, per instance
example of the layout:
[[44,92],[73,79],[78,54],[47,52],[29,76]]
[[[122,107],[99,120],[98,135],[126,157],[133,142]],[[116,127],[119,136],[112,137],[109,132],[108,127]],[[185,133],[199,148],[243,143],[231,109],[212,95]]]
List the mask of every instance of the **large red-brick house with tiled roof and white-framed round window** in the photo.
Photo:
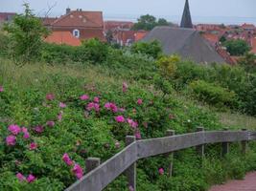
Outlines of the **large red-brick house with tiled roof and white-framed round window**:
[[105,41],[102,11],[71,11],[68,8],[58,19],[45,18],[43,23],[53,32],[71,32],[80,40],[98,38]]

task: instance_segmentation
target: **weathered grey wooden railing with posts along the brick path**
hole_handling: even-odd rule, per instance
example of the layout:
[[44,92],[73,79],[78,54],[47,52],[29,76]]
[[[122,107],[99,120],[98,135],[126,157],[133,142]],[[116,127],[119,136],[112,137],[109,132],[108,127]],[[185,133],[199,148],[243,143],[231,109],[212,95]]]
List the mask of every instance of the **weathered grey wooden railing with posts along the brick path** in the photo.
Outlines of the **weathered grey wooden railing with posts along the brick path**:
[[[228,153],[230,142],[241,141],[242,152],[246,151],[249,140],[256,139],[256,132],[250,131],[204,131],[176,135],[175,131],[168,131],[167,137],[136,140],[133,136],[126,138],[127,147],[121,152],[100,164],[100,159],[86,159],[87,174],[78,180],[66,191],[100,191],[119,175],[125,173],[128,177],[128,186],[136,190],[136,161],[160,154],[173,155],[172,152],[196,146],[198,154],[204,155],[204,145],[208,143],[222,143],[222,155]],[[172,175],[170,164],[169,175]]]

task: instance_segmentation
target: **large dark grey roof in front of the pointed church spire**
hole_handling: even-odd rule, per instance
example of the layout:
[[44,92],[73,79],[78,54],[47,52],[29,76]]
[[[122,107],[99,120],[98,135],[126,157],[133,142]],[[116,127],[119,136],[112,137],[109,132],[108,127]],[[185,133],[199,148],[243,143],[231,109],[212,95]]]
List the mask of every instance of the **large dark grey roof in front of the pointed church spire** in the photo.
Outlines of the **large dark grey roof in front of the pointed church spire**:
[[155,27],[142,39],[146,42],[153,40],[161,43],[166,54],[177,53],[182,58],[199,63],[225,62],[215,48],[192,29]]

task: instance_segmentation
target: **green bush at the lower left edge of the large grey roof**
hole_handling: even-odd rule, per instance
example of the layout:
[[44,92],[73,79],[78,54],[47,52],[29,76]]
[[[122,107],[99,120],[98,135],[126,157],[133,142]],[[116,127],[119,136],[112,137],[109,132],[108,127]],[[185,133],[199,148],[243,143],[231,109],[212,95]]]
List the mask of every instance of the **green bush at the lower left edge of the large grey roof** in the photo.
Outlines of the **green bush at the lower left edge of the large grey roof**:
[[162,54],[162,48],[158,41],[154,40],[150,43],[147,42],[137,42],[132,44],[130,48],[131,53],[143,53],[151,56],[153,58],[157,58]]

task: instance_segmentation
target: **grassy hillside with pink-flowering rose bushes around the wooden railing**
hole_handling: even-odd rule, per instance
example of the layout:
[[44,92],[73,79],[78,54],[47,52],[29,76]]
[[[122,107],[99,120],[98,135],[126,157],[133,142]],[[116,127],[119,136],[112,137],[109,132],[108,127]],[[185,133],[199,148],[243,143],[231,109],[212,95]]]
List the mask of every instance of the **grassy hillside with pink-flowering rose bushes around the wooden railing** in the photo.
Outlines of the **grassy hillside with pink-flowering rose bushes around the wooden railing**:
[[[152,77],[143,75],[155,70],[147,66],[151,62],[135,63],[115,65],[115,70],[80,63],[19,67],[1,58],[0,190],[63,190],[80,178],[78,171],[67,165],[64,154],[79,164],[84,174],[84,159],[109,159],[124,148],[126,135],[157,138],[165,136],[168,129],[181,134],[196,131],[198,126],[206,130],[226,126],[215,109],[198,106],[193,96],[175,90],[163,96],[152,84]],[[8,144],[12,124],[26,127],[30,138],[19,133],[14,144]],[[219,146],[208,146],[202,161],[194,149],[177,152],[172,179],[166,173],[167,159],[140,160],[138,190],[206,190],[211,184],[241,179],[245,171],[256,169],[255,150],[244,157],[239,144],[234,144],[231,153],[221,159]],[[201,162],[203,167],[198,169]],[[163,175],[158,173],[160,168]],[[18,180],[17,173],[27,178],[33,175],[36,180]],[[128,190],[125,177],[105,190]]]

